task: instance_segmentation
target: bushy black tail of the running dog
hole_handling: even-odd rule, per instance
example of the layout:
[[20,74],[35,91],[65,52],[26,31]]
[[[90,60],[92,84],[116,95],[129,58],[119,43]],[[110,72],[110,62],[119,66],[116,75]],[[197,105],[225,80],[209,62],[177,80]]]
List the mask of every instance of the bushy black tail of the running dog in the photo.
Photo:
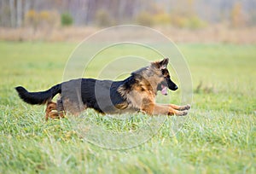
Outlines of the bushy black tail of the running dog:
[[46,102],[51,101],[51,99],[58,93],[61,93],[61,84],[56,84],[51,87],[49,90],[40,91],[40,92],[28,92],[22,86],[17,86],[15,88],[19,93],[20,98],[29,104],[32,105],[42,105]]

